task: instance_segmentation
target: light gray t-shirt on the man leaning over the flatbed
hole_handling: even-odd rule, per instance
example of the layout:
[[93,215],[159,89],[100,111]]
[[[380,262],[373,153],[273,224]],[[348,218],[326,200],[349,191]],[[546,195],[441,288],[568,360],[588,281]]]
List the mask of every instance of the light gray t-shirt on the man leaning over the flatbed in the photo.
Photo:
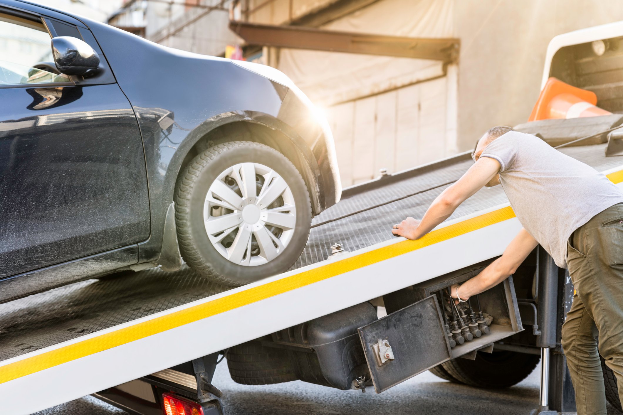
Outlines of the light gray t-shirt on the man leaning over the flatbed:
[[500,162],[500,183],[515,215],[561,268],[567,268],[573,231],[623,202],[623,192],[605,175],[531,134],[509,131],[480,157]]

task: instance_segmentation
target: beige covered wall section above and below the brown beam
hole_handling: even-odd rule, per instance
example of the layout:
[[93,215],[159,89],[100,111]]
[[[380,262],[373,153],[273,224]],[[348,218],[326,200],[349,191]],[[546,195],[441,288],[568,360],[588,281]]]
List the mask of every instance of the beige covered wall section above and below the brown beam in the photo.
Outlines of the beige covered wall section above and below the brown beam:
[[[302,7],[318,1],[298,0]],[[453,0],[380,0],[322,26],[412,37],[452,35]],[[442,62],[282,49],[277,68],[325,108],[344,187],[455,154],[457,70]],[[447,75],[446,75],[447,72]]]

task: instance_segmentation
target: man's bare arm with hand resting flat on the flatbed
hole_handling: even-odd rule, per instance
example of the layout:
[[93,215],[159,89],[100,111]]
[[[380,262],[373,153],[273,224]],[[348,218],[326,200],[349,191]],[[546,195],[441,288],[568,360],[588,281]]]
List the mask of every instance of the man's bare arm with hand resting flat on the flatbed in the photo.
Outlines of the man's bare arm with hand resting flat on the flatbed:
[[398,225],[394,225],[392,233],[411,240],[422,238],[449,218],[465,199],[482,189],[499,171],[500,162],[490,157],[480,157],[455,184],[450,185],[435,198],[421,221],[408,217]]

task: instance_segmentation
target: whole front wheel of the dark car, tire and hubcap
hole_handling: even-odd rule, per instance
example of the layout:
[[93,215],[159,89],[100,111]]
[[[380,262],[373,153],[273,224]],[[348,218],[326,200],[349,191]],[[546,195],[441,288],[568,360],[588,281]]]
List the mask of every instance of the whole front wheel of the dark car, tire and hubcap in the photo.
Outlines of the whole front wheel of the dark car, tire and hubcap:
[[[274,189],[270,188],[273,185]],[[263,204],[284,186],[271,205]],[[274,191],[264,193],[270,189]],[[232,199],[234,192],[238,198]],[[240,203],[235,207],[238,210],[232,210],[234,206],[224,200]],[[297,168],[280,152],[257,142],[226,142],[197,155],[179,175],[175,203],[184,261],[201,276],[231,286],[287,271],[305,248],[312,223],[309,193]],[[288,207],[291,209],[285,210]],[[247,217],[245,209],[251,212]],[[216,220],[223,218],[212,215],[229,215],[225,218],[227,226],[232,225],[231,220],[240,221],[240,225],[234,223],[234,228],[208,235],[224,223],[221,220],[219,224]],[[272,218],[275,222],[277,216],[280,223],[287,216],[287,226],[280,228],[269,224],[269,219],[264,221]],[[257,223],[249,225],[249,217]]]

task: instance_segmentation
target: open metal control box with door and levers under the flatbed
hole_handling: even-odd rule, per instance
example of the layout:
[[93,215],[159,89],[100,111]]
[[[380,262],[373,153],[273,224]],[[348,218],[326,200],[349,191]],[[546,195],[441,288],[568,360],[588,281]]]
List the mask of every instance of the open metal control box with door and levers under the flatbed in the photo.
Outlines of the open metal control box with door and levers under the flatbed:
[[[471,299],[473,314],[468,303],[450,304],[449,287],[482,269],[456,271],[383,296],[388,315],[359,328],[376,393],[444,361],[475,359],[479,350],[491,353],[495,342],[523,330],[512,276],[478,295],[482,317],[476,296]],[[489,324],[487,316],[492,317]],[[452,335],[455,319],[457,326],[463,320],[464,327],[455,327]]]

